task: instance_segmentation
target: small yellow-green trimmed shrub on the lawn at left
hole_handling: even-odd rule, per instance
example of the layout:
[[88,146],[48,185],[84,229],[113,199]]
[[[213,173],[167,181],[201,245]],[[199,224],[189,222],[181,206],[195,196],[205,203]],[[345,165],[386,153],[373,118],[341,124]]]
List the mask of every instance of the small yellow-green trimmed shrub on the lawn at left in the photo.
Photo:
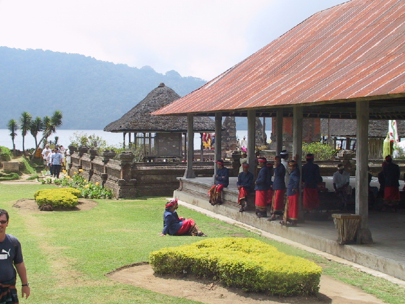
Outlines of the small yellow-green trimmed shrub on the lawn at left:
[[34,198],[39,207],[69,208],[77,205],[79,195],[80,191],[73,188],[42,189],[34,193]]

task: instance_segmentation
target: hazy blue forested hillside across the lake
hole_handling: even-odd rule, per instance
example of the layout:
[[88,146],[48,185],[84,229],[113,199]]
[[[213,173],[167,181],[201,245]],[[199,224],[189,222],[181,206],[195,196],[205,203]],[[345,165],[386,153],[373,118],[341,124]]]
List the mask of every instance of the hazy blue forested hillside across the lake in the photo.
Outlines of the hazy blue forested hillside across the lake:
[[0,47],[0,129],[21,112],[63,112],[62,129],[103,129],[164,82],[184,96],[206,82],[150,66],[129,67],[78,54]]

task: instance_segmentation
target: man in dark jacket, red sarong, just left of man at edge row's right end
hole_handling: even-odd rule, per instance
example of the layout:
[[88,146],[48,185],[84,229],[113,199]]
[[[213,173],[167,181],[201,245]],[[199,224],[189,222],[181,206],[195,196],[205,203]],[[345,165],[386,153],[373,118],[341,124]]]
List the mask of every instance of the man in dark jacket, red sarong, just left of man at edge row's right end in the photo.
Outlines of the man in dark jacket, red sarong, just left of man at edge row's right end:
[[281,164],[281,158],[274,157],[274,180],[273,180],[273,199],[271,201],[271,217],[268,220],[275,220],[275,215],[284,212],[284,195],[286,193],[286,167]]

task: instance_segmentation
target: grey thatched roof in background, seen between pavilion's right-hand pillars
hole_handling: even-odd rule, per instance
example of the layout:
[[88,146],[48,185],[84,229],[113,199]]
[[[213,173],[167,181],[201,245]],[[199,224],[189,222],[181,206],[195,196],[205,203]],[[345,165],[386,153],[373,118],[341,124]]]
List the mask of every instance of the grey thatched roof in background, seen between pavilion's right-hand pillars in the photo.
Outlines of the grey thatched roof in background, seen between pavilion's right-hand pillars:
[[[397,120],[398,137],[405,137],[405,121]],[[356,120],[331,119],[331,136],[356,137]],[[387,120],[370,120],[369,137],[386,137],[388,132]],[[328,135],[328,120],[320,120],[320,133]]]

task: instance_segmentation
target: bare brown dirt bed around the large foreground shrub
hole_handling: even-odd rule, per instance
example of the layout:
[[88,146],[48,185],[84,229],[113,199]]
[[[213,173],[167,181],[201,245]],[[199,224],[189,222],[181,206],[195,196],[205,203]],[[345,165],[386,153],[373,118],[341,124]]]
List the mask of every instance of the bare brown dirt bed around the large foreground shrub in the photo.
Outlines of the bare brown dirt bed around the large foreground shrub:
[[[276,297],[236,288],[224,288],[220,283],[191,277],[154,275],[149,264],[136,265],[107,275],[121,283],[131,284],[155,292],[193,299],[208,304],[373,304],[383,303],[357,287],[342,283],[329,276],[321,276],[320,290],[316,296]],[[214,284],[213,284],[214,283]]]

